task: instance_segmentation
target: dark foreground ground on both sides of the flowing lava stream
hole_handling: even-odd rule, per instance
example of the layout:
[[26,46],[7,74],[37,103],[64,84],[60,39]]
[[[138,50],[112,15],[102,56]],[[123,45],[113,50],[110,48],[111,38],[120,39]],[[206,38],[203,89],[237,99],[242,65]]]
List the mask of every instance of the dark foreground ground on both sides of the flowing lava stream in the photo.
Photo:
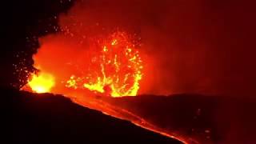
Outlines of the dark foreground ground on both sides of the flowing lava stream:
[[[0,143],[182,143],[54,94],[0,88]],[[256,101],[196,94],[106,98],[104,102],[190,143],[256,143]]]

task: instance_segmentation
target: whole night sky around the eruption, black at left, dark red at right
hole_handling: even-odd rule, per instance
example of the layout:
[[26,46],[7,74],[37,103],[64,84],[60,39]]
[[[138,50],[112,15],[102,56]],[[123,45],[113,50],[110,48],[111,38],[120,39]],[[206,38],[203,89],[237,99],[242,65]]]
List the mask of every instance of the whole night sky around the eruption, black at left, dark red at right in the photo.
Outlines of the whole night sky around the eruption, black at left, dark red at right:
[[[53,32],[58,26],[54,16],[66,12],[72,3],[11,0],[2,4],[1,86],[18,82],[13,64],[32,69],[31,54],[38,48],[38,37]],[[250,0],[88,0],[63,18],[83,14],[79,9],[85,9],[103,26],[114,23],[137,31],[144,44],[142,50],[154,61],[154,71],[144,81],[152,85],[142,87],[144,93],[254,97],[254,6]],[[87,18],[86,22],[95,19]]]

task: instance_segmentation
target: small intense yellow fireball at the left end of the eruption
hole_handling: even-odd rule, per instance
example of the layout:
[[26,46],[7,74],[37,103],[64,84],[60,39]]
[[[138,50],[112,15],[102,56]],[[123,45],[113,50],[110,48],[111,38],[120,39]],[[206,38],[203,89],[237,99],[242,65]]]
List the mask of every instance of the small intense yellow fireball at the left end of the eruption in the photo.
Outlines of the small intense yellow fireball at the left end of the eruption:
[[46,73],[32,74],[32,78],[28,82],[28,86],[36,93],[50,92],[54,85],[54,77]]

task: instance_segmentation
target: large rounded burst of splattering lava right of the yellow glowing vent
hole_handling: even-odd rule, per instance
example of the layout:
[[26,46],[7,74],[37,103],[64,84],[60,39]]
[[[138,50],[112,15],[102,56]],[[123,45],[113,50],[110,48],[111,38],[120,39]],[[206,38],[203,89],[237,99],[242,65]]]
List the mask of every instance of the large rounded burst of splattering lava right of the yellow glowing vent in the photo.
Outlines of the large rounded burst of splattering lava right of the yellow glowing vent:
[[98,42],[86,75],[72,75],[66,86],[86,88],[113,97],[135,96],[142,78],[142,60],[125,33],[117,32]]

